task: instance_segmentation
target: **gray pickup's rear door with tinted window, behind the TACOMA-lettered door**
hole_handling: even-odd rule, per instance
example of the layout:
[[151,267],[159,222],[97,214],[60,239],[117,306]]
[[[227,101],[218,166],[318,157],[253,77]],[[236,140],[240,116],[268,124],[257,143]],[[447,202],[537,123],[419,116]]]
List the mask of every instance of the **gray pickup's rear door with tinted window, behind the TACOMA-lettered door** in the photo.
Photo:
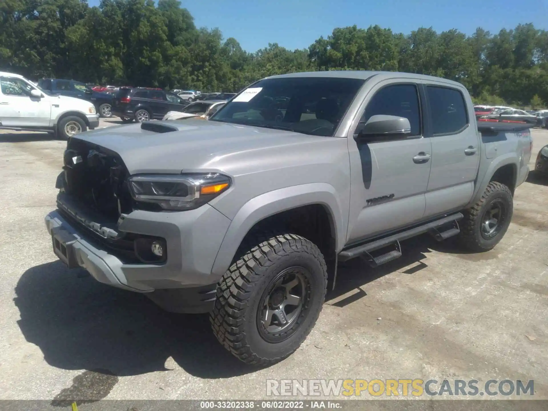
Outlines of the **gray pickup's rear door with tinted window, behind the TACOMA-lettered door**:
[[464,87],[423,81],[429,112],[432,165],[425,218],[470,201],[479,166],[479,132]]

